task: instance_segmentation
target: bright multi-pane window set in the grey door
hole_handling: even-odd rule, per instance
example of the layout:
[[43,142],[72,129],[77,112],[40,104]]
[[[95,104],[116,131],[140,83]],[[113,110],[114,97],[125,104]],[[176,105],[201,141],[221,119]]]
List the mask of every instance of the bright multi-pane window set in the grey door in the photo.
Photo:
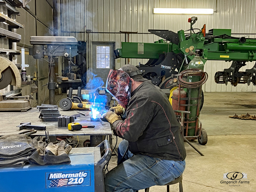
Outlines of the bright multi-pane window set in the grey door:
[[96,46],[96,68],[110,68],[110,46]]

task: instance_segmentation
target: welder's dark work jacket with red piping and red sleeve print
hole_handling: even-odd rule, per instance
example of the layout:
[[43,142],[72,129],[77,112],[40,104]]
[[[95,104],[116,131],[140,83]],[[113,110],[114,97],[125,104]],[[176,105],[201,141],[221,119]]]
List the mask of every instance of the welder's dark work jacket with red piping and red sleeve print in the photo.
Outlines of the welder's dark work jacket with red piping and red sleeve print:
[[129,141],[129,150],[134,154],[173,161],[186,157],[173,108],[163,91],[149,80],[132,92],[127,118],[114,122],[113,129]]

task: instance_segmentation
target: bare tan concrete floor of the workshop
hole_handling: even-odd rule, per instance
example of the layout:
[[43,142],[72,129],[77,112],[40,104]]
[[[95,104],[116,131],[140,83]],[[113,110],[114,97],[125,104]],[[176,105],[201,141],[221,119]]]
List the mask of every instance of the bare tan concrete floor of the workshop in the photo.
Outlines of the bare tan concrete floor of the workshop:
[[[56,96],[56,100],[60,100],[61,97],[63,95]],[[255,105],[256,92],[204,93],[204,106],[200,119],[202,127],[208,133],[208,143],[202,146],[197,141],[193,141],[198,150],[205,155],[204,157],[185,143],[187,157],[183,174],[184,192],[256,191],[256,121],[228,117],[235,113],[256,115],[256,108],[247,108],[241,106],[242,104]],[[121,140],[118,139],[118,144]],[[114,144],[115,141],[114,137]],[[113,155],[109,162],[109,170],[116,165],[117,157]],[[221,184],[223,174],[226,172],[244,172],[250,183],[240,186]],[[170,189],[178,192],[178,184],[170,186]],[[150,187],[150,192],[166,191],[166,186]]]

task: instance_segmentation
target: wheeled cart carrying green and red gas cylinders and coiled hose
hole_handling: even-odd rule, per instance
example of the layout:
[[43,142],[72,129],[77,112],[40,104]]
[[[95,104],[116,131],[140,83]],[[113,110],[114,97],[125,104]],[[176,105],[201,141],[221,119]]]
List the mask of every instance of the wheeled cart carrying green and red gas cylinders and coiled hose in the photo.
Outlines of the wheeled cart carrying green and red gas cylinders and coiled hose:
[[176,75],[176,81],[172,79],[170,81],[178,84],[178,88],[173,91],[171,98],[172,107],[174,111],[176,110],[176,115],[182,123],[182,137],[200,155],[203,155],[188,141],[197,139],[199,144],[205,145],[208,140],[206,130],[202,128],[199,119],[202,85],[208,79],[208,74],[203,71],[203,68],[195,68],[198,63],[201,64],[200,62],[202,62],[200,58],[195,56],[189,63],[188,69]]

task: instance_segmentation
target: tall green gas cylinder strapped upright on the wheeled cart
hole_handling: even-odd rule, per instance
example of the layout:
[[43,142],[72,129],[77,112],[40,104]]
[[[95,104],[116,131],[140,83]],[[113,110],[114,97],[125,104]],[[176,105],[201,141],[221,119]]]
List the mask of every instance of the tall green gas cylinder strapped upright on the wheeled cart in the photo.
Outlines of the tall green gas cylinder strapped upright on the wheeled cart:
[[[188,69],[191,69],[191,68],[198,68],[198,69],[204,70],[204,63],[202,62],[202,60],[200,59],[199,56],[195,56],[194,59],[192,59],[189,62]],[[201,80],[200,76],[188,76],[187,77],[187,82],[196,82],[196,81],[200,81],[200,80]],[[189,93],[189,89],[190,88],[186,89],[187,96]],[[191,98],[193,98],[193,97],[197,98],[198,92],[199,92],[199,87],[191,89]],[[197,100],[190,101],[190,104],[197,104],[197,103],[198,103]],[[200,101],[199,101],[199,103],[200,103]],[[191,114],[189,114],[189,118],[191,118],[191,120],[193,120],[193,121],[196,120],[197,119],[197,106],[190,106],[189,111],[191,112]],[[196,123],[190,123],[189,127],[190,126],[196,126]],[[188,129],[187,136],[194,136],[194,135],[195,135],[195,128]]]

